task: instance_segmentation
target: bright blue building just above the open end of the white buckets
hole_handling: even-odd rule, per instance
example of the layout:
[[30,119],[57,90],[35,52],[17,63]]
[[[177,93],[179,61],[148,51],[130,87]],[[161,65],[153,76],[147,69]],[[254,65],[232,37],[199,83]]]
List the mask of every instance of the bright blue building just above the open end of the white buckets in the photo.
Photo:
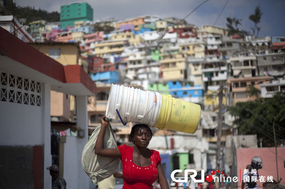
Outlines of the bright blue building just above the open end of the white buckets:
[[92,73],[90,74],[90,77],[94,82],[118,83],[120,81],[119,74],[116,71]]

